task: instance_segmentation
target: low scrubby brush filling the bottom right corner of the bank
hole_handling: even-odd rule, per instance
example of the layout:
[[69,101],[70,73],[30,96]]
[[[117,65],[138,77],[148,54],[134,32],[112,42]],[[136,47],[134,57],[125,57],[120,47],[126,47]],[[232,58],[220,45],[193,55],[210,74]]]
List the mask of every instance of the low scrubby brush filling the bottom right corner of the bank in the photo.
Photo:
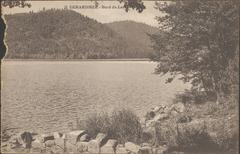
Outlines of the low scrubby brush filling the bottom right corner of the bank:
[[156,125],[158,143],[173,150],[237,153],[238,126],[236,117],[230,117],[200,118],[181,124],[168,119]]

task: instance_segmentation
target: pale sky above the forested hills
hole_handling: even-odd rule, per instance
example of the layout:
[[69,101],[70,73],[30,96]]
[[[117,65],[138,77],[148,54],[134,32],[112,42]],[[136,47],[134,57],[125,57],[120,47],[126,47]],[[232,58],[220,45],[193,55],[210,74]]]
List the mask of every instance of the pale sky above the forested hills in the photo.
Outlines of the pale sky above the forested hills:
[[[114,21],[122,20],[133,20],[136,22],[146,23],[148,25],[157,26],[155,20],[156,16],[163,15],[159,10],[154,8],[154,1],[144,1],[146,9],[142,13],[138,13],[136,10],[130,9],[129,12],[126,12],[124,9],[103,9],[102,6],[123,6],[123,3],[118,1],[98,1],[99,8],[97,9],[72,9],[76,12],[79,12],[89,18],[96,19],[101,23],[109,23]],[[24,13],[24,12],[38,12],[45,7],[45,9],[50,8],[64,8],[64,6],[70,7],[70,5],[94,5],[94,1],[31,1],[30,8],[3,8],[3,14],[14,14],[14,13]]]

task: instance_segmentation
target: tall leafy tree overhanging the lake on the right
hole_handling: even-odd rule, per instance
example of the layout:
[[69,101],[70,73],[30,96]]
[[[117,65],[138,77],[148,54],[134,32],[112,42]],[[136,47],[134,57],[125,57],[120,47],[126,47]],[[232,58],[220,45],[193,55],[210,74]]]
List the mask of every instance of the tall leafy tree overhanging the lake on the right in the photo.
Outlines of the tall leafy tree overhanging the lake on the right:
[[165,13],[157,17],[162,33],[151,36],[156,71],[169,73],[168,82],[181,74],[192,90],[214,92],[218,102],[231,91],[229,72],[239,72],[238,66],[231,70],[238,65],[233,61],[239,55],[239,2],[188,0],[156,8]]

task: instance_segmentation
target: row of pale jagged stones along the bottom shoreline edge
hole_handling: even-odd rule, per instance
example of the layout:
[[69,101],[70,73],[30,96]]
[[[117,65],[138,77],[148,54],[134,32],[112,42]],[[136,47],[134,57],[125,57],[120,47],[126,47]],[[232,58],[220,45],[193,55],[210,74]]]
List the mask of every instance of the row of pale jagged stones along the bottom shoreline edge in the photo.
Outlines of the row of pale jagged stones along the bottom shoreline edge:
[[[117,140],[108,139],[107,134],[104,133],[99,133],[89,141],[90,138],[85,130],[76,130],[65,134],[54,132],[34,136],[30,132],[24,132],[3,143],[2,148],[12,153],[24,153],[26,149],[29,149],[31,153],[51,154],[162,154],[159,152],[161,151],[159,148],[153,148],[149,143],[141,145],[133,142],[118,144]],[[28,141],[31,141],[30,148],[26,146]],[[6,147],[9,148],[6,149]]]

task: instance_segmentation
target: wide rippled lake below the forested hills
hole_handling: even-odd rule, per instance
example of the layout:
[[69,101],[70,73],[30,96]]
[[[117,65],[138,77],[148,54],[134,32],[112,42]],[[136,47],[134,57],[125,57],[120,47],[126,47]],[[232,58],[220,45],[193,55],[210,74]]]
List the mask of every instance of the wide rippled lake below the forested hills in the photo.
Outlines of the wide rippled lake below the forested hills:
[[67,131],[93,113],[130,108],[139,117],[188,86],[165,84],[148,61],[3,61],[2,128]]

